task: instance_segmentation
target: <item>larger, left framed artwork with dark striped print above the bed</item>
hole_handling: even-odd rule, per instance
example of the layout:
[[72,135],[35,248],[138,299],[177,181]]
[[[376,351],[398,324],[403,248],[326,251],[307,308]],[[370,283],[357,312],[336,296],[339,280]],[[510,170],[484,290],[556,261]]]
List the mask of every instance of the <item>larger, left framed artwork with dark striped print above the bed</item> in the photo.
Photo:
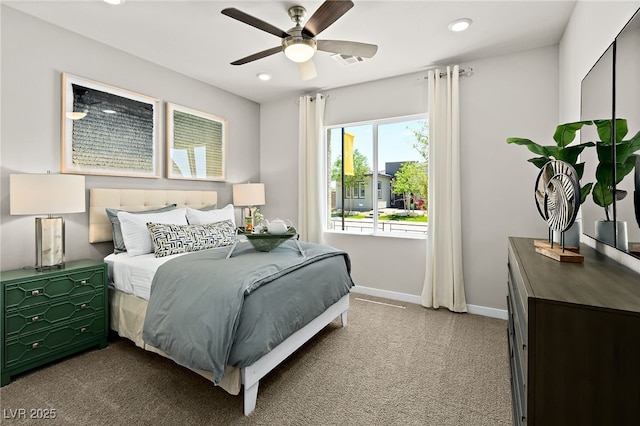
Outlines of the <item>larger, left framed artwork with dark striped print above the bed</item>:
[[160,101],[62,74],[62,173],[159,178]]

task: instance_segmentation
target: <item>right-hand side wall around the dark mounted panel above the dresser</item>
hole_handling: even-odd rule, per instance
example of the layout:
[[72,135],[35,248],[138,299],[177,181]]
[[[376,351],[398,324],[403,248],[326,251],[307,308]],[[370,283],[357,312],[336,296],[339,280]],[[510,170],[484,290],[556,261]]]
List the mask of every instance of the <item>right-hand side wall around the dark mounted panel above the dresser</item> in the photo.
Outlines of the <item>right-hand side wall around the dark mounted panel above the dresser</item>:
[[[559,122],[580,119],[580,85],[598,58],[611,45],[633,14],[640,1],[579,1],[560,41],[560,111]],[[640,259],[604,247],[587,236],[583,241],[601,248],[628,267],[640,271]]]

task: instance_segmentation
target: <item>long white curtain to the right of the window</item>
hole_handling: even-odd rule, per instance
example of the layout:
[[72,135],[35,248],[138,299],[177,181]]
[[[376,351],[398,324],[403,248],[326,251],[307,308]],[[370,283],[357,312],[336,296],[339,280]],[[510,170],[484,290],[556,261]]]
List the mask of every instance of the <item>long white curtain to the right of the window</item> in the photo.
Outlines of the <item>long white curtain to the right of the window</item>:
[[422,305],[466,312],[460,214],[459,67],[428,73],[429,235]]

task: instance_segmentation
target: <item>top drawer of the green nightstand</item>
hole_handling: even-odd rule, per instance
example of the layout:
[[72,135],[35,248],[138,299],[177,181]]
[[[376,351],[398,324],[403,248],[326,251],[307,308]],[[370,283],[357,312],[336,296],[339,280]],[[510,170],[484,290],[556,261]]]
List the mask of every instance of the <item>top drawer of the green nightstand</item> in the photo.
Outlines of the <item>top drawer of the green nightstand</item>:
[[102,267],[9,283],[4,288],[5,311],[49,303],[59,297],[102,291],[103,283]]

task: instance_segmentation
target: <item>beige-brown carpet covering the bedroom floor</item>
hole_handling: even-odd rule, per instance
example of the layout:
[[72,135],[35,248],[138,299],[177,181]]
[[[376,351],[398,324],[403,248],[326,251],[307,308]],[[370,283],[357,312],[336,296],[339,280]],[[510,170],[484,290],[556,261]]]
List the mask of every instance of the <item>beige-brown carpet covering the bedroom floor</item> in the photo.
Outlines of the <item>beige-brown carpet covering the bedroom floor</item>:
[[[405,309],[362,301],[369,299]],[[0,389],[46,425],[508,425],[506,321],[351,295],[349,324],[325,328],[260,382],[256,410],[123,339],[25,373]]]

